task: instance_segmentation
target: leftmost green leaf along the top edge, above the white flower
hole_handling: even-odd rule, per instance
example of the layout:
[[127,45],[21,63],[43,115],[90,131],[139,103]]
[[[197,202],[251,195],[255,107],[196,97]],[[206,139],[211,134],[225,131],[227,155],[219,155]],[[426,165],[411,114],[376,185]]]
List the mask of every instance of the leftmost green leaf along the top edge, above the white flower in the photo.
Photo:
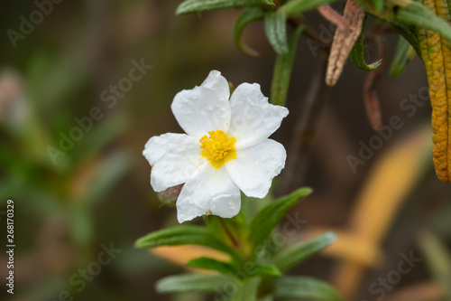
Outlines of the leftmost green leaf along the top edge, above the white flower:
[[260,4],[253,0],[186,0],[177,7],[176,14],[190,14],[211,11],[214,9],[240,8],[257,5]]

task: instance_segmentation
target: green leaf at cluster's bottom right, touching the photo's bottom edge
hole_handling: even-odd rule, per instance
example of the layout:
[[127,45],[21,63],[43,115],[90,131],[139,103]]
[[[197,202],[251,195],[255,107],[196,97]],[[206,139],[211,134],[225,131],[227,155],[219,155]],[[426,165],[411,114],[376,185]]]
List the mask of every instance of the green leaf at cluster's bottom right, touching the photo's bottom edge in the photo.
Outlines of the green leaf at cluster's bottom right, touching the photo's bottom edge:
[[275,297],[279,299],[343,301],[336,289],[312,277],[282,277],[276,281]]

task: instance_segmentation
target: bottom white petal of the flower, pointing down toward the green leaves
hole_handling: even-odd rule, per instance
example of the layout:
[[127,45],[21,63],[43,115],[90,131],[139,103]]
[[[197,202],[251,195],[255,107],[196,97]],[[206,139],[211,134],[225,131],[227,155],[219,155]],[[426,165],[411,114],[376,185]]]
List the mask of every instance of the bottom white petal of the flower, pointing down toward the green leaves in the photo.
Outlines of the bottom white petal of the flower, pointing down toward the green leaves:
[[230,179],[226,169],[207,165],[181,189],[177,200],[177,218],[180,223],[203,214],[231,218],[240,212],[240,208],[240,189]]

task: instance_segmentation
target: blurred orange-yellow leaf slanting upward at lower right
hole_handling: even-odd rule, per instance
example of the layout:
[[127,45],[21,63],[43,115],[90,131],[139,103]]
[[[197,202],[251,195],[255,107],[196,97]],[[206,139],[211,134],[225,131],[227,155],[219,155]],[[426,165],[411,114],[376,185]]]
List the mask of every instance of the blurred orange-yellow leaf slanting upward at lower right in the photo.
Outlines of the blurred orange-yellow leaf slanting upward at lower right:
[[[345,244],[341,246],[340,253],[345,260],[336,268],[335,283],[346,298],[354,294],[364,277],[368,268],[364,263],[382,259],[382,255],[378,254],[382,241],[400,212],[402,202],[419,182],[421,175],[425,174],[424,163],[430,149],[429,141],[428,128],[422,128],[414,136],[394,146],[374,166],[362,192],[357,196],[349,235],[354,234],[355,241],[362,240],[357,244],[361,251],[372,246],[373,250],[360,254],[358,261],[352,259],[355,257],[354,243],[350,243],[352,237],[342,236],[349,243],[347,250]],[[340,236],[336,244],[339,241]]]

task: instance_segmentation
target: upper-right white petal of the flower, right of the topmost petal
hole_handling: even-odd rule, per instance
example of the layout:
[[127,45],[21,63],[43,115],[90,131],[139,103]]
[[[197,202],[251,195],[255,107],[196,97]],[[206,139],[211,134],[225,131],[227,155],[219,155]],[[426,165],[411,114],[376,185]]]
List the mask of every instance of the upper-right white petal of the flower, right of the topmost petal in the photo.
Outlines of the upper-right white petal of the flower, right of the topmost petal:
[[232,119],[229,136],[236,137],[236,149],[254,146],[281,127],[288,108],[274,106],[262,94],[259,84],[243,83],[230,99]]

